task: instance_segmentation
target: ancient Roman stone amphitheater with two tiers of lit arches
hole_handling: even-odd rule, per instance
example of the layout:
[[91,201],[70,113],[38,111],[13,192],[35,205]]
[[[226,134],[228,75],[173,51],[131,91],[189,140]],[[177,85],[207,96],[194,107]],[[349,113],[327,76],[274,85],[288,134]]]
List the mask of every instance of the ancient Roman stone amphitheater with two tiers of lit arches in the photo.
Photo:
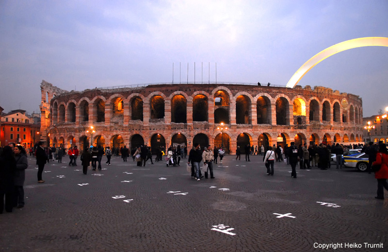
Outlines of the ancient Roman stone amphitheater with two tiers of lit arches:
[[41,92],[42,139],[66,148],[92,141],[154,150],[198,142],[234,153],[246,144],[363,139],[361,98],[324,87],[210,83],[66,91],[42,81]]

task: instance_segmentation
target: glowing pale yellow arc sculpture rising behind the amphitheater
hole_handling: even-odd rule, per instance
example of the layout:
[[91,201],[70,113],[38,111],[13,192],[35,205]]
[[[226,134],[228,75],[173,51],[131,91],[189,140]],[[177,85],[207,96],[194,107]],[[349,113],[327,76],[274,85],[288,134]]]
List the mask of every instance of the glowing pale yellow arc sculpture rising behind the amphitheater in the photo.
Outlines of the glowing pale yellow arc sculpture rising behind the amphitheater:
[[323,59],[327,59],[336,53],[339,53],[348,49],[363,47],[363,46],[388,46],[388,38],[365,37],[365,38],[351,39],[351,40],[347,40],[347,41],[332,45],[330,47],[327,47],[323,51],[314,55],[314,57],[312,57],[311,59],[307,60],[306,63],[304,63],[298,69],[298,71],[296,71],[295,74],[292,75],[286,87],[291,89],[295,87],[296,84],[298,84],[298,82],[303,78],[303,76],[305,76],[305,74],[307,74],[307,72],[310,71],[311,68],[313,68],[319,62],[321,62]]

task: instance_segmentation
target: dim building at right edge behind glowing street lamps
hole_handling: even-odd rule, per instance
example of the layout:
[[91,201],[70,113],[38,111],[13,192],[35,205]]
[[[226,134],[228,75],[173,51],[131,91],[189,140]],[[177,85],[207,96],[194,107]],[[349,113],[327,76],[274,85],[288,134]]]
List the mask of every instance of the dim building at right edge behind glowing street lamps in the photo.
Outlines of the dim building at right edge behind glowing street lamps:
[[388,120],[387,118],[382,118],[383,115],[374,115],[371,117],[365,117],[362,119],[363,125],[368,126],[368,121],[371,122],[371,126],[374,125],[374,129],[371,129],[370,135],[368,130],[364,130],[364,142],[374,142],[378,143],[382,141],[383,143],[388,143]]

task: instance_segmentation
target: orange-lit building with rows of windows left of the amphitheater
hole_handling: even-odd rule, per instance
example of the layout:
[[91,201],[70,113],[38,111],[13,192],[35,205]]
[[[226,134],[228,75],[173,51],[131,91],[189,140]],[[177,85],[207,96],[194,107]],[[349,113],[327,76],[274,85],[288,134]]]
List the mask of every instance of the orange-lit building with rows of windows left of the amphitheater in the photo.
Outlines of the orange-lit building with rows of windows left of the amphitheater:
[[26,111],[22,109],[2,114],[0,145],[6,146],[13,142],[24,148],[33,147],[36,141],[40,140],[40,124],[35,121],[38,120],[26,115]]

